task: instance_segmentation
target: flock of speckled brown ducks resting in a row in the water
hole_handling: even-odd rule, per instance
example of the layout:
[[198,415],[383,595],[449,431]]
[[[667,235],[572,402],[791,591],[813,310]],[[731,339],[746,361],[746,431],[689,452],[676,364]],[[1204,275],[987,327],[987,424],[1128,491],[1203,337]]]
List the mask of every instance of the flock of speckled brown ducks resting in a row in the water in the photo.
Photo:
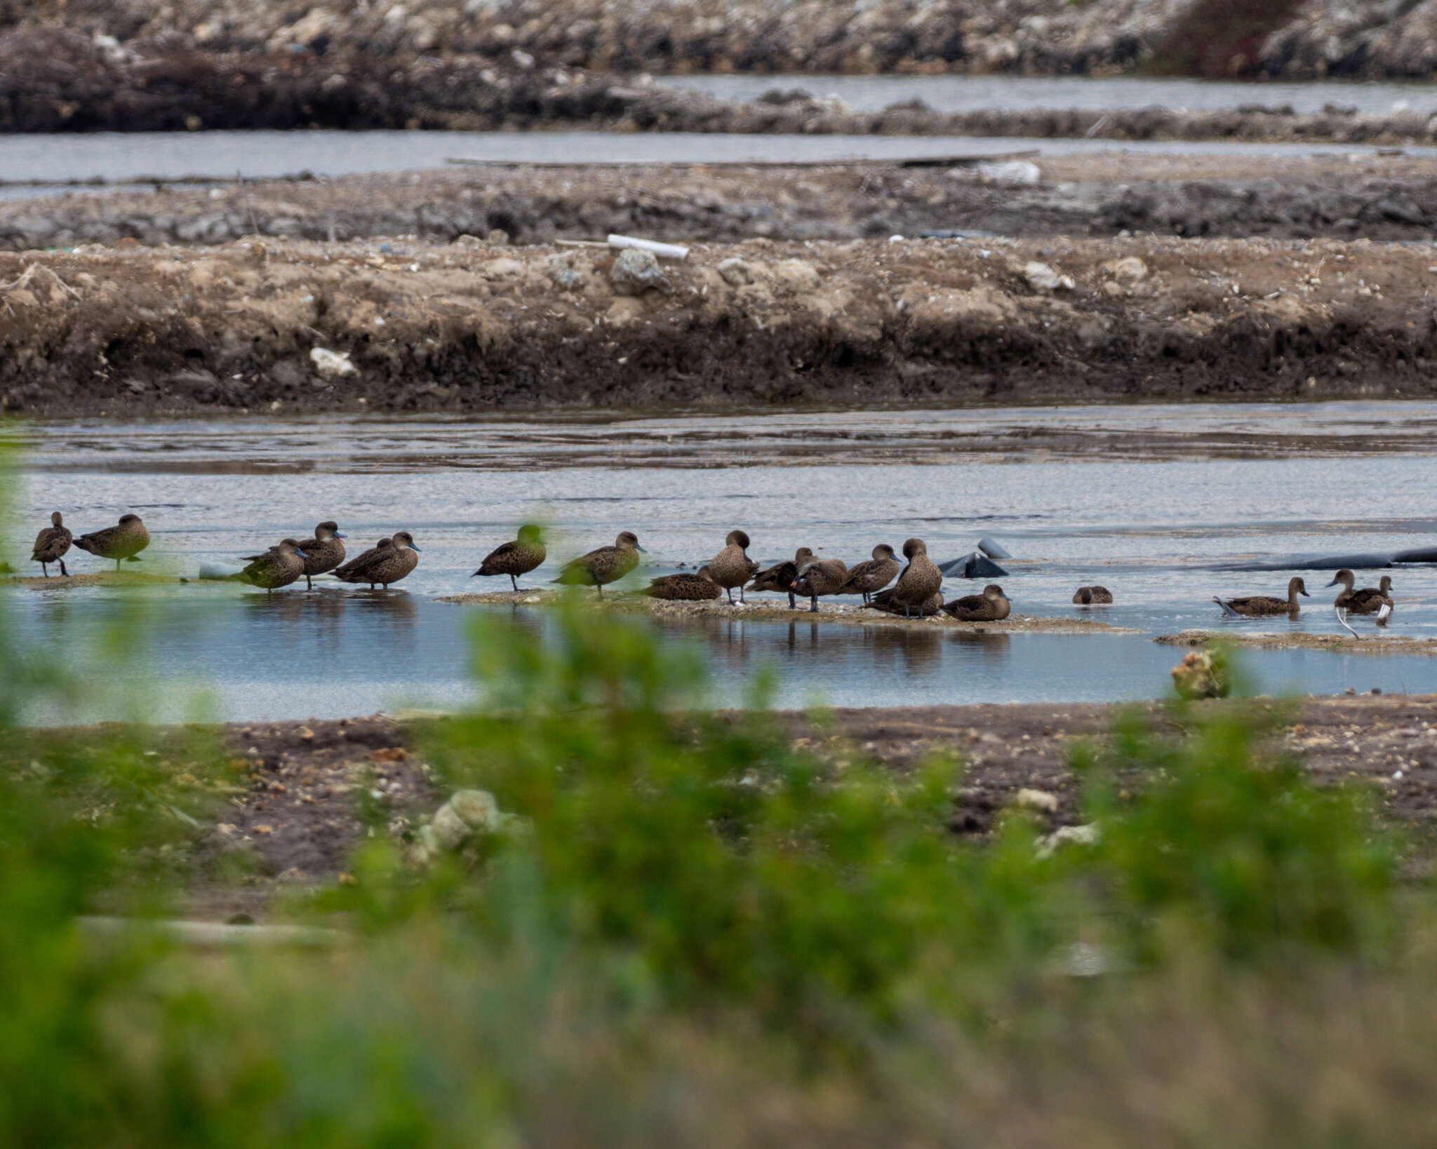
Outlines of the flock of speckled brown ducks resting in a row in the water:
[[[328,574],[346,583],[368,583],[369,587],[389,587],[407,577],[420,562],[420,547],[408,531],[381,539],[375,546],[351,559],[345,550],[345,536],[338,523],[326,520],[315,527],[312,539],[285,539],[262,554],[246,557],[247,566],[227,579],[257,586],[269,593],[305,579],[306,587],[313,587],[313,579]],[[114,560],[115,569],[124,562],[138,562],[139,553],[149,546],[149,531],[138,514],[121,516],[114,527],[73,536],[65,526],[59,511],[50,516],[50,526],[34,539],[32,562],[40,563],[45,577],[50,566],[59,564],[60,574],[69,576],[65,556],[70,547],[83,550],[98,559]],[[743,603],[744,590],[786,592],[789,608],[796,606],[798,596],[809,599],[809,609],[818,610],[818,600],[829,595],[859,595],[864,606],[904,618],[925,618],[940,612],[963,622],[999,622],[1012,610],[1009,597],[997,583],[989,583],[981,595],[964,595],[954,602],[943,599],[943,572],[928,557],[923,539],[908,539],[902,544],[907,564],[900,563],[895,552],[887,543],[872,550],[872,557],[846,566],[841,559],[819,559],[809,547],[799,547],[790,562],[760,569],[749,559],[749,536],[731,530],[724,539],[723,550],[696,572],[680,572],[652,579],[639,593],[654,599],[704,602],[727,595],[731,603],[733,592],[739,592]],[[629,574],[639,563],[638,536],[622,531],[612,546],[598,547],[565,563],[553,582],[566,586],[592,586],[599,597],[604,587]],[[519,576],[537,569],[547,559],[543,534],[537,526],[525,524],[519,537],[504,543],[480,563],[474,576],[509,576],[514,590],[519,590]],[[890,586],[891,583],[891,586]],[[1348,631],[1349,615],[1375,615],[1378,625],[1385,625],[1392,615],[1392,579],[1382,576],[1377,587],[1357,587],[1357,576],[1342,569],[1328,586],[1342,586],[1334,600],[1338,620]],[[1265,618],[1275,615],[1296,616],[1298,596],[1308,597],[1306,583],[1295,577],[1288,583],[1286,597],[1253,595],[1237,599],[1214,597],[1227,618]],[[1112,592],[1104,586],[1081,586],[1073,593],[1078,606],[1101,606],[1112,602]],[[1357,632],[1352,631],[1355,635]]]

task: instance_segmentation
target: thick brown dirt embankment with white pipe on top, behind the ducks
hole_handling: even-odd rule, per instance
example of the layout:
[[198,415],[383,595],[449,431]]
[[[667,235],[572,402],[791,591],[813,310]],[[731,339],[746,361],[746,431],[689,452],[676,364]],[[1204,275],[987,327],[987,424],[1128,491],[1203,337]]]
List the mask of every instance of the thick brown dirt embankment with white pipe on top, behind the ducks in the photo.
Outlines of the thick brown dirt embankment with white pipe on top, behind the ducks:
[[662,266],[608,248],[387,247],[0,254],[0,408],[1437,394],[1426,247],[749,241]]

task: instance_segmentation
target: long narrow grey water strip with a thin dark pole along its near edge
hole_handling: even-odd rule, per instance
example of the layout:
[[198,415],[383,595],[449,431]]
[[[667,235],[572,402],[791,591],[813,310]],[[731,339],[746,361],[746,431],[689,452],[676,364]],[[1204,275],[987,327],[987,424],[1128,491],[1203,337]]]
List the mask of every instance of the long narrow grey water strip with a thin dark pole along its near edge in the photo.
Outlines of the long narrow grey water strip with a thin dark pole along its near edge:
[[[905,157],[1043,155],[1131,151],[1165,155],[1371,155],[1357,144],[1237,144],[1230,141],[1025,139],[895,135],[727,135],[694,132],[96,132],[0,135],[0,178],[55,181],[147,177],[267,180],[309,171],[320,177],[441,168],[451,157],[546,164],[787,162]],[[1437,148],[1404,148],[1437,155]],[[53,194],[53,187],[0,187],[6,198]],[[95,194],[112,194],[96,188]],[[78,194],[86,190],[78,188]]]

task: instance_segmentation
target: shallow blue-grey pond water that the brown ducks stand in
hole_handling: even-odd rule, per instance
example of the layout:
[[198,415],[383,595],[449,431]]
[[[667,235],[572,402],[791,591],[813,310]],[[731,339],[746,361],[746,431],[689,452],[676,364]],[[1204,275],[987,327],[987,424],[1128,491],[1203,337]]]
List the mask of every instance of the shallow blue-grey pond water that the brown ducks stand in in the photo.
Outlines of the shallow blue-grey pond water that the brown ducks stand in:
[[[1002,582],[1016,610],[1076,618],[1073,587],[1101,582],[1117,603],[1094,616],[1140,633],[973,639],[790,628],[741,612],[665,633],[710,649],[720,702],[741,701],[763,665],[777,671],[782,705],[1117,699],[1165,689],[1177,653],[1147,636],[1221,625],[1213,595],[1286,585],[1288,572],[1213,563],[1437,544],[1434,432],[1437,404],[1400,402],[83,422],[26,432],[14,501],[27,537],[56,507],[78,530],[134,510],[155,534],[142,569],[182,574],[320,518],[339,520],[359,544],[414,533],[420,567],[388,595],[331,586],[267,602],[191,585],[141,596],[151,606],[145,671],[208,684],[226,717],[464,697],[464,620],[510,612],[435,599],[476,589],[479,559],[525,518],[550,524],[555,556],[530,585],[624,529],[639,534],[655,572],[707,559],[733,527],[750,533],[763,562],[808,544],[852,563],[910,534],[947,559],[992,536],[1013,554]],[[99,567],[73,554],[72,569]],[[1306,574],[1312,609],[1260,629],[1335,629],[1326,579]],[[1437,570],[1394,577],[1392,631],[1437,635]],[[950,597],[970,589],[946,587]],[[124,602],[115,590],[4,592],[11,626],[72,658]],[[1263,689],[1437,689],[1437,661],[1420,658],[1253,652],[1249,662]]]

